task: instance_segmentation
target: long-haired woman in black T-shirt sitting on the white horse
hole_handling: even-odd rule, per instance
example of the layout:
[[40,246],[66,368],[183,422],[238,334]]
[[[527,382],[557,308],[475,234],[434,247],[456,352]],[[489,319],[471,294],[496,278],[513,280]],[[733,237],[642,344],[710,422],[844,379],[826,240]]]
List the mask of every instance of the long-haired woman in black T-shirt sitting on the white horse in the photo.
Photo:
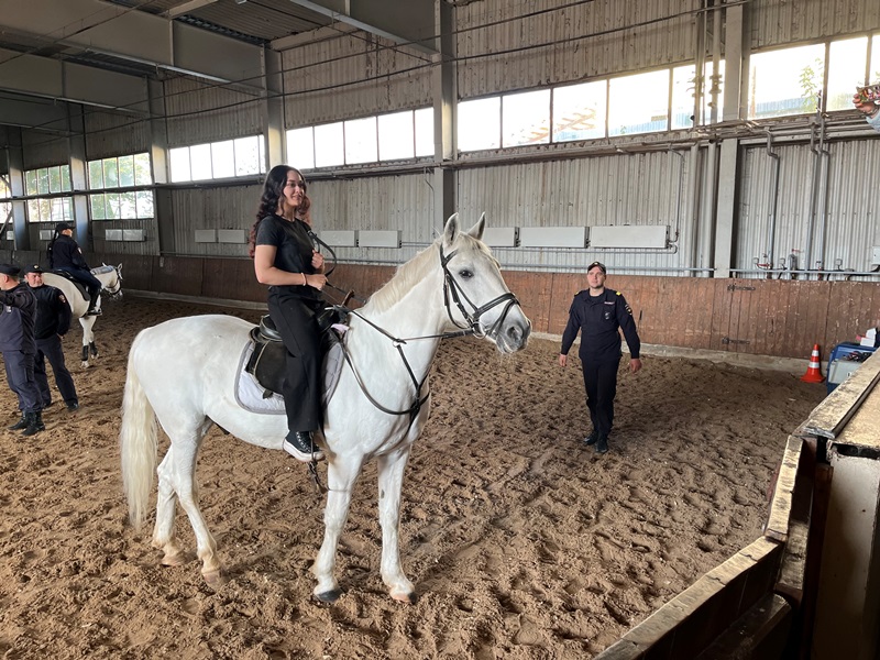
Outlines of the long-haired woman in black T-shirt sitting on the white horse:
[[268,287],[268,314],[287,349],[282,387],[288,433],[284,450],[300,461],[320,460],[312,431],[321,426],[321,333],[316,320],[324,307],[323,255],[309,231],[310,200],[299,170],[276,165],[266,175],[251,229],[256,279]]

